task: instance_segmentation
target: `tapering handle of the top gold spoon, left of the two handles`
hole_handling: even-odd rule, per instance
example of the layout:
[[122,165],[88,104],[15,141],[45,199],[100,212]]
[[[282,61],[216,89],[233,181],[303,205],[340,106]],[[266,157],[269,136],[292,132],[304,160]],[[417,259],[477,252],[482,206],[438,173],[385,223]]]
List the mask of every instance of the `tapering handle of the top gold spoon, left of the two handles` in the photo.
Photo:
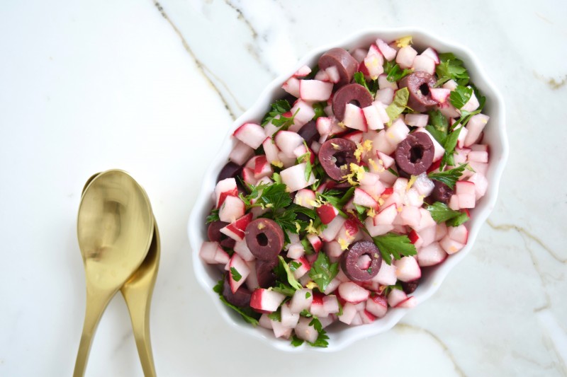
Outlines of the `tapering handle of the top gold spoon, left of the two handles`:
[[75,361],[73,377],[84,376],[94,332],[96,332],[96,327],[99,325],[102,313],[104,313],[106,306],[108,306],[114,294],[116,294],[116,291],[99,291],[97,294],[92,294],[90,289],[86,289],[86,311],[84,315],[83,333],[81,335],[81,342],[79,343],[79,352],[77,352],[77,361]]

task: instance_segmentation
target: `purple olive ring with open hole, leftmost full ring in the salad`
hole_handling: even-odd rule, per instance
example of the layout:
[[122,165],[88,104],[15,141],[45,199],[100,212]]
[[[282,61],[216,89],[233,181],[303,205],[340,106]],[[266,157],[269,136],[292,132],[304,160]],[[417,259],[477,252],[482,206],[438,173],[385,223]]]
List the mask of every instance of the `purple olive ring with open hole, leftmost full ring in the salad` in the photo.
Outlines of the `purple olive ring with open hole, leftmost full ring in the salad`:
[[283,230],[276,221],[256,219],[246,227],[246,245],[259,260],[274,260],[283,247]]

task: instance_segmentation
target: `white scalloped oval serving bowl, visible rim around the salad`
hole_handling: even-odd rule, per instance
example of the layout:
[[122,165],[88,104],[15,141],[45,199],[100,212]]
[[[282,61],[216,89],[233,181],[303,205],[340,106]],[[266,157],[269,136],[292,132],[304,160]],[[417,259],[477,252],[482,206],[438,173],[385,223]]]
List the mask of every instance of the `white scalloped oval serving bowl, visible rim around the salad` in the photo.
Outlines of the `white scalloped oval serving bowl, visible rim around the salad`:
[[417,47],[418,50],[423,50],[426,47],[434,47],[439,52],[453,52],[457,57],[464,61],[466,69],[471,76],[473,82],[478,89],[486,97],[486,105],[483,113],[490,116],[490,121],[484,129],[483,142],[490,144],[490,164],[486,177],[488,178],[489,187],[486,195],[478,202],[476,208],[471,210],[471,220],[466,223],[468,228],[468,243],[466,246],[454,255],[449,255],[447,260],[435,267],[428,267],[427,272],[422,276],[420,285],[415,290],[413,296],[417,299],[417,303],[422,303],[427,298],[432,296],[439,286],[441,286],[449,271],[459,263],[473,248],[474,241],[478,235],[482,224],[488,218],[488,215],[495,206],[498,196],[498,185],[500,184],[500,177],[503,173],[504,166],[508,156],[508,141],[505,131],[505,108],[503,99],[494,87],[493,83],[488,79],[485,72],[481,68],[481,63],[466,47],[457,45],[454,42],[449,42],[443,38],[433,36],[423,30],[412,28],[400,29],[383,29],[383,30],[364,30],[354,35],[350,35],[344,40],[319,47],[316,50],[308,53],[301,59],[296,67],[286,74],[279,76],[277,79],[269,83],[264,89],[259,99],[249,108],[244,114],[238,117],[229,129],[227,136],[223,142],[217,158],[213,161],[210,168],[207,170],[206,175],[203,177],[201,192],[196,199],[196,204],[191,211],[189,218],[189,241],[193,250],[193,269],[196,274],[198,282],[203,286],[203,289],[208,293],[218,308],[220,314],[228,321],[233,327],[248,336],[256,337],[267,344],[270,344],[276,349],[281,349],[288,352],[305,352],[319,351],[319,352],[334,352],[346,347],[356,340],[360,340],[372,335],[380,334],[391,329],[400,319],[412,309],[405,308],[388,308],[388,313],[383,318],[380,318],[374,323],[369,325],[360,325],[349,327],[342,323],[334,324],[327,327],[327,334],[329,335],[329,347],[293,347],[288,340],[276,339],[271,330],[266,330],[262,327],[252,327],[240,317],[239,314],[232,311],[232,309],[225,306],[218,298],[218,294],[213,291],[213,286],[220,279],[220,273],[215,267],[210,267],[201,261],[199,257],[199,249],[203,240],[207,238],[207,226],[205,224],[206,216],[208,216],[211,207],[213,207],[213,200],[211,194],[215,188],[216,177],[221,168],[228,161],[228,153],[230,153],[234,145],[234,138],[231,137],[237,127],[245,122],[259,122],[262,120],[264,114],[269,110],[270,104],[274,100],[283,98],[286,93],[281,89],[281,84],[286,81],[289,76],[293,74],[300,66],[307,64],[308,66],[315,66],[321,54],[330,50],[332,47],[343,47],[347,50],[352,50],[356,47],[368,47],[372,42],[380,37],[383,40],[395,40],[407,35],[412,36],[412,45]]

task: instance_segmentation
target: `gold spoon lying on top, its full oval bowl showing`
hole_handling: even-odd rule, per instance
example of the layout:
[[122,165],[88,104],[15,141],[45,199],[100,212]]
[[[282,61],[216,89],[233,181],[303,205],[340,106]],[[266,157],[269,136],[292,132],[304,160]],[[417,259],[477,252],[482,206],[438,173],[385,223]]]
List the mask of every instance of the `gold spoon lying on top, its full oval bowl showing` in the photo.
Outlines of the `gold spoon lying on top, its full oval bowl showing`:
[[154,231],[150,201],[128,173],[107,170],[86,185],[77,219],[86,277],[86,313],[73,376],[84,375],[102,313],[142,265]]

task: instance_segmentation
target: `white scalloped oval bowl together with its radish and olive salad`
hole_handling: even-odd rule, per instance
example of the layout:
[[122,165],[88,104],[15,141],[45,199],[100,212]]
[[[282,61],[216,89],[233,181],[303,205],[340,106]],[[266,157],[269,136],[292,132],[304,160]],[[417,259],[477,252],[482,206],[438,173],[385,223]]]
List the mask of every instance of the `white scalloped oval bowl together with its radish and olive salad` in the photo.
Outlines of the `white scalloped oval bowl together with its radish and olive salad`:
[[413,30],[314,52],[235,122],[204,180],[196,273],[232,323],[281,349],[387,330],[470,250],[503,128],[460,47]]

